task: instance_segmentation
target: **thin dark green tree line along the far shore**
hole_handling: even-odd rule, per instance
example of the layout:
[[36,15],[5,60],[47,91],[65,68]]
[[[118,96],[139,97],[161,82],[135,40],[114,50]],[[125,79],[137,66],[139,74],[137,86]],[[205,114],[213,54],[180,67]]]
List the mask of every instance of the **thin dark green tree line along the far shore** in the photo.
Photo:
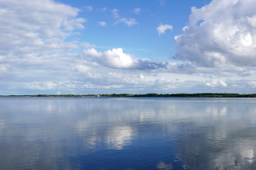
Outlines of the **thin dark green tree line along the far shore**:
[[[3,96],[2,96],[3,97]],[[9,95],[4,97],[256,97],[256,93],[239,94],[239,93],[146,93],[146,94],[129,94],[129,93],[112,93],[112,94],[37,94],[37,95]]]

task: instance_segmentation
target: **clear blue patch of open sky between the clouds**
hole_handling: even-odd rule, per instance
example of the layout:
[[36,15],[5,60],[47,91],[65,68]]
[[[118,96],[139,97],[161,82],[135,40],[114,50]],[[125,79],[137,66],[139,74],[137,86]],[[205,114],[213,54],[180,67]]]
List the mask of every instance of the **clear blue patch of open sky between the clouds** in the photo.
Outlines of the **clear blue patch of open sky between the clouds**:
[[[202,7],[210,1],[61,1],[65,4],[81,8],[78,16],[86,19],[85,29],[81,30],[81,41],[86,40],[97,46],[99,51],[109,48],[122,48],[124,53],[148,59],[168,59],[175,53],[174,37],[188,24],[191,7]],[[86,10],[86,7],[92,7]],[[137,24],[115,24],[112,10],[116,8],[119,19],[135,19]],[[139,10],[137,13],[134,9]],[[102,11],[106,10],[106,11]],[[98,22],[106,22],[106,26],[99,26]],[[162,23],[173,26],[166,35],[159,36],[156,28]],[[74,39],[74,37],[73,37]],[[109,47],[109,48],[107,48]]]

